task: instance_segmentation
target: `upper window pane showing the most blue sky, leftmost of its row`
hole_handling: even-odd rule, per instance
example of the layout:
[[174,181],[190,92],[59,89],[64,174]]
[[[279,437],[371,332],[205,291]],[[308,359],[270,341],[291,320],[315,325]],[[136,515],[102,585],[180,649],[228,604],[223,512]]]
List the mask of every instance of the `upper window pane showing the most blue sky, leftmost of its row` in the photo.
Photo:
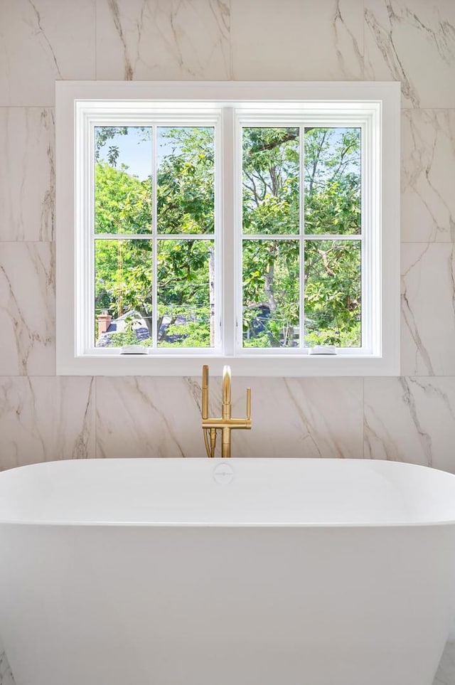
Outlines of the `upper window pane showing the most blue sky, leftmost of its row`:
[[95,233],[151,233],[151,127],[95,127]]

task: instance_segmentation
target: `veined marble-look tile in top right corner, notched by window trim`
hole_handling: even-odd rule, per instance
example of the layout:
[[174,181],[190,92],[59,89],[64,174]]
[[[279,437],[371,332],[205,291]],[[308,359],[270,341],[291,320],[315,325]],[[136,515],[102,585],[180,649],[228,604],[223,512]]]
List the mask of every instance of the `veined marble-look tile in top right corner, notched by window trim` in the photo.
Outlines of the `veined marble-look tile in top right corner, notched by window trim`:
[[452,0],[364,0],[365,80],[402,82],[403,107],[455,107]]

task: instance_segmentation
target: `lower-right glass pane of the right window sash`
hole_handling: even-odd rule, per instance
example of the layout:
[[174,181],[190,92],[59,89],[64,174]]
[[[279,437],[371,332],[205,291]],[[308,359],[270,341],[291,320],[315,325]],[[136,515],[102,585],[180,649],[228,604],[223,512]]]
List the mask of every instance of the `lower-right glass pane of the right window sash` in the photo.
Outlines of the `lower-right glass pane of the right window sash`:
[[305,346],[360,347],[360,240],[305,241]]

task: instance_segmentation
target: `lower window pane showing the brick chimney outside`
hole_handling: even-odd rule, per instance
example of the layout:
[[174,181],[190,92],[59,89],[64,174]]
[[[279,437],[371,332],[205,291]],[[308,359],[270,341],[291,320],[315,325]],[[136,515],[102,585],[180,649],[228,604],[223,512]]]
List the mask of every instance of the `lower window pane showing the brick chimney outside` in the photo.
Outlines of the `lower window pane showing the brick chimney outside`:
[[95,346],[152,344],[151,265],[151,240],[95,240]]

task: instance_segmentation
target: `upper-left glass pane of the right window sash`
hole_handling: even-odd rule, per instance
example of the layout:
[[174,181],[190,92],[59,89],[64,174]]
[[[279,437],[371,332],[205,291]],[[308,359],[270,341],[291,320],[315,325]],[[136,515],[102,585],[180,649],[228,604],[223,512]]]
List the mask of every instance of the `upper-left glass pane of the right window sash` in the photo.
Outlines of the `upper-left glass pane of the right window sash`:
[[243,232],[299,233],[299,129],[243,129]]

